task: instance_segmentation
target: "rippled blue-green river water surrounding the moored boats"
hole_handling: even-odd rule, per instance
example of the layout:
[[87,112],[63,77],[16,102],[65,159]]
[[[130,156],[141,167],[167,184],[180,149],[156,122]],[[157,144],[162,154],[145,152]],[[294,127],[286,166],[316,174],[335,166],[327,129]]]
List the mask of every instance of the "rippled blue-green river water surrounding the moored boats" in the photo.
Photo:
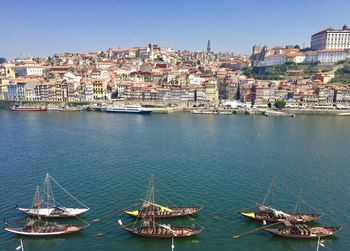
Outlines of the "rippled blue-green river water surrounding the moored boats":
[[[124,232],[121,210],[144,198],[153,175],[157,201],[203,205],[193,217],[164,220],[199,225],[196,237],[176,239],[175,250],[316,250],[315,240],[290,240],[256,231],[236,212],[264,199],[272,177],[275,207],[322,213],[321,225],[342,225],[324,250],[350,250],[350,117],[174,113],[128,115],[98,112],[0,111],[1,217],[21,222],[16,204],[31,205],[46,173],[90,207],[80,233],[23,238],[25,250],[171,250],[170,240]],[[52,184],[57,201],[79,206]],[[94,219],[100,219],[93,222]],[[100,236],[96,234],[100,233]],[[0,230],[0,250],[20,237]]]

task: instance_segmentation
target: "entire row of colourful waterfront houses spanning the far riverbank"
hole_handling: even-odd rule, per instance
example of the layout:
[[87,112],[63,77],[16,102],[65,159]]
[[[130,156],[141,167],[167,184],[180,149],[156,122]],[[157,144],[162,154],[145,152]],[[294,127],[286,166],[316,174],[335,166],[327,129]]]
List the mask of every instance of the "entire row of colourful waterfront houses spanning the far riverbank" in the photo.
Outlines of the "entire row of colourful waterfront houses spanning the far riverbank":
[[[219,86],[219,88],[218,88]],[[239,99],[254,104],[267,104],[283,99],[289,102],[349,103],[350,85],[326,85],[319,80],[294,82],[259,82],[253,79],[205,82],[200,86],[122,81],[93,81],[76,87],[69,81],[0,79],[0,98],[12,101],[95,101],[113,98],[125,100],[193,101],[216,104],[222,99]]]

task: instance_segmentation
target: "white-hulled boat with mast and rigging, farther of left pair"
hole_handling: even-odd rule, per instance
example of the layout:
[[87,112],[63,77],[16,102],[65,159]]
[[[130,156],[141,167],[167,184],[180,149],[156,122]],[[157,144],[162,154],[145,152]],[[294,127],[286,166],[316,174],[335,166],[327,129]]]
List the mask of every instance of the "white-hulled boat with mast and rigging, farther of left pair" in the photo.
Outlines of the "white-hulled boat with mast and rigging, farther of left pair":
[[[53,197],[51,183],[50,180],[53,180],[64,192],[66,192],[70,197],[76,200],[79,204],[84,206],[84,208],[66,208],[62,206],[57,206]],[[44,201],[41,199],[41,194],[43,197],[46,197],[46,207],[42,207]],[[49,174],[46,175],[44,181],[44,189],[43,191],[37,187],[34,196],[34,202],[32,208],[22,208],[16,207],[17,210],[29,215],[29,216],[39,216],[44,218],[65,218],[65,217],[74,217],[81,215],[87,211],[89,208],[86,207],[83,203],[81,203],[78,199],[76,199],[73,195],[71,195],[67,190],[65,190],[61,185],[59,185],[56,180],[54,180]]]

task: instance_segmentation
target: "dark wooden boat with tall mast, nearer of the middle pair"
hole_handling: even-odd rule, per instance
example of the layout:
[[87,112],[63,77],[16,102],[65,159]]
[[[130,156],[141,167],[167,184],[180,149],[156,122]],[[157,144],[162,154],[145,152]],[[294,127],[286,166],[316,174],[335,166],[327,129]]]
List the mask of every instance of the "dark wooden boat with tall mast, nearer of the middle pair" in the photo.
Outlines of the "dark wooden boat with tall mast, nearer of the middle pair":
[[[172,211],[169,211],[170,208],[166,208],[154,203],[154,185],[152,179],[150,181],[146,194],[146,200],[143,200],[143,206],[140,210],[141,213],[137,212],[134,215],[134,217],[140,215],[141,217],[138,218],[140,218],[141,220],[136,220],[134,223],[131,223],[132,226],[130,226],[130,224],[123,225],[121,220],[118,221],[118,223],[122,226],[124,230],[135,235],[152,238],[182,238],[194,236],[203,231],[202,227],[172,227],[170,225],[160,224],[156,222],[158,218],[161,218],[156,217],[160,214],[160,212],[166,212],[167,214],[170,214]],[[180,215],[183,214],[184,212],[181,211]]]

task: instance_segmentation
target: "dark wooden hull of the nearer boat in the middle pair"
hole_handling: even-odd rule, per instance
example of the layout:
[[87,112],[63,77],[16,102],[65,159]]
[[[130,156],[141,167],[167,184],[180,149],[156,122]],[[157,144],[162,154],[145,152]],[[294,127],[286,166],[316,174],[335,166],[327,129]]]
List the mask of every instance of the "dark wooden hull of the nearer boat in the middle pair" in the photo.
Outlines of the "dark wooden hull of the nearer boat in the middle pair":
[[129,228],[124,227],[124,230],[129,233],[139,235],[147,238],[158,238],[158,239],[168,239],[168,238],[185,238],[191,237],[199,234],[203,231],[203,228],[193,228],[193,227],[172,227],[172,231],[164,228]]

